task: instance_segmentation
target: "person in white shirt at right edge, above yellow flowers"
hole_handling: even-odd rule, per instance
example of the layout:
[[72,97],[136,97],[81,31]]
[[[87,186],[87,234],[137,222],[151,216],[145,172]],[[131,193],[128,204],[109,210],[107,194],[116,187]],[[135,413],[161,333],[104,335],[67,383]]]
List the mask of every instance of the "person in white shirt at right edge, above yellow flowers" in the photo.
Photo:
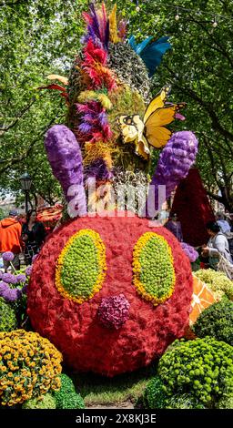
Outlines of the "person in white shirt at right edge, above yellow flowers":
[[208,245],[202,247],[202,256],[208,257],[209,265],[211,268],[216,269],[220,255],[232,263],[229,252],[228,239],[220,230],[217,221],[208,221],[207,223]]

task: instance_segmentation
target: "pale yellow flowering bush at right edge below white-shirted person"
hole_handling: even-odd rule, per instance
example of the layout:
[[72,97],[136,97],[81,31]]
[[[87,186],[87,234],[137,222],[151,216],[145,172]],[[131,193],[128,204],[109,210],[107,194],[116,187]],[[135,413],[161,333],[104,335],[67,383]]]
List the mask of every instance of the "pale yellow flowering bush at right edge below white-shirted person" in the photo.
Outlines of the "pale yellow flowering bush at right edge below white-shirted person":
[[199,280],[203,280],[209,289],[214,292],[217,299],[221,299],[224,294],[228,299],[233,300],[233,282],[223,272],[212,269],[201,269],[195,272]]

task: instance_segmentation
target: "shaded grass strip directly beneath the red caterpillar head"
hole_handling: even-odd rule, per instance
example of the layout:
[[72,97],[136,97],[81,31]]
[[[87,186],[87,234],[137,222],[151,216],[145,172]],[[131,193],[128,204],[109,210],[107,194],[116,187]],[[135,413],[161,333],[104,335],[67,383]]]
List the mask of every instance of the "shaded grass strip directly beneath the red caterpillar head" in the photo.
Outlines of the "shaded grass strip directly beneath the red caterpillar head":
[[95,405],[119,405],[124,403],[136,403],[141,396],[147,382],[155,376],[157,363],[150,364],[137,372],[117,375],[114,378],[93,373],[67,374],[73,379],[76,391],[84,398],[86,407]]

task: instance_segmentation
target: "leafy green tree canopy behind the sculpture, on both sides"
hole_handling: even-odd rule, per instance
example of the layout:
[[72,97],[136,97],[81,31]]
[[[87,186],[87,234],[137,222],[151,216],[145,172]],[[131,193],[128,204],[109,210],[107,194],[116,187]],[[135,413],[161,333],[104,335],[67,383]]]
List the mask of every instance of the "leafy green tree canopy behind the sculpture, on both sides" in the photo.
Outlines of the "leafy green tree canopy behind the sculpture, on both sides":
[[[35,195],[50,203],[60,196],[43,140],[48,127],[64,122],[66,108],[59,95],[35,87],[45,84],[50,73],[68,75],[87,3],[0,0],[1,188],[18,190],[26,168]],[[114,3],[106,1],[109,7]],[[128,33],[138,42],[150,35],[170,36],[172,50],[157,69],[154,91],[171,83],[171,99],[187,102],[187,120],[178,128],[196,133],[197,164],[208,193],[232,212],[233,0],[139,0],[138,6],[117,1],[118,11],[129,20]]]

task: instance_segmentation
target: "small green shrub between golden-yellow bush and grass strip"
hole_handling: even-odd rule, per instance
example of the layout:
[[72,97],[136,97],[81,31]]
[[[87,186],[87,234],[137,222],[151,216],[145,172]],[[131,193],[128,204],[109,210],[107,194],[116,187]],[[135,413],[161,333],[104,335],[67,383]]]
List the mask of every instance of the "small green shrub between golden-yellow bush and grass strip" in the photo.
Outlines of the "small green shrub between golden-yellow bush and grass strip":
[[72,380],[65,374],[60,375],[61,388],[54,393],[57,409],[84,409],[85,404],[76,389]]

